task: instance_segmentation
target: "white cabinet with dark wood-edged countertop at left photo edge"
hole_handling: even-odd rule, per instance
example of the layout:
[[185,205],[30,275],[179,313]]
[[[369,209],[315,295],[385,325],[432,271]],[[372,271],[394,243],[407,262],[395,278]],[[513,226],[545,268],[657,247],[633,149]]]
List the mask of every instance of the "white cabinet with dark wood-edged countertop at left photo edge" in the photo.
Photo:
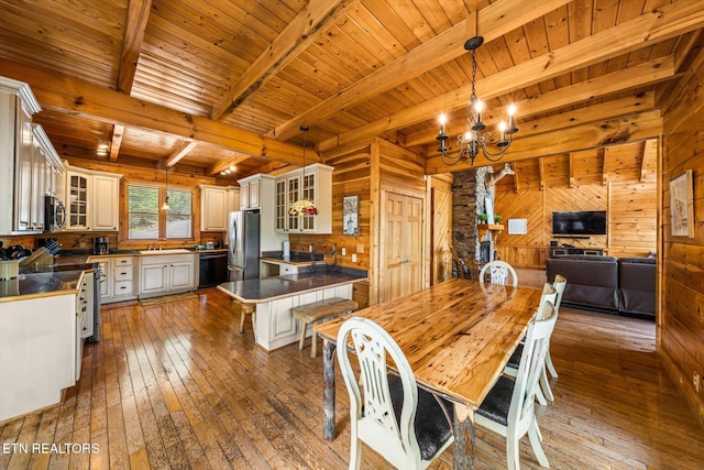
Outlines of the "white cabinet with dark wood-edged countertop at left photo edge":
[[0,422],[62,400],[80,373],[84,271],[0,281]]

